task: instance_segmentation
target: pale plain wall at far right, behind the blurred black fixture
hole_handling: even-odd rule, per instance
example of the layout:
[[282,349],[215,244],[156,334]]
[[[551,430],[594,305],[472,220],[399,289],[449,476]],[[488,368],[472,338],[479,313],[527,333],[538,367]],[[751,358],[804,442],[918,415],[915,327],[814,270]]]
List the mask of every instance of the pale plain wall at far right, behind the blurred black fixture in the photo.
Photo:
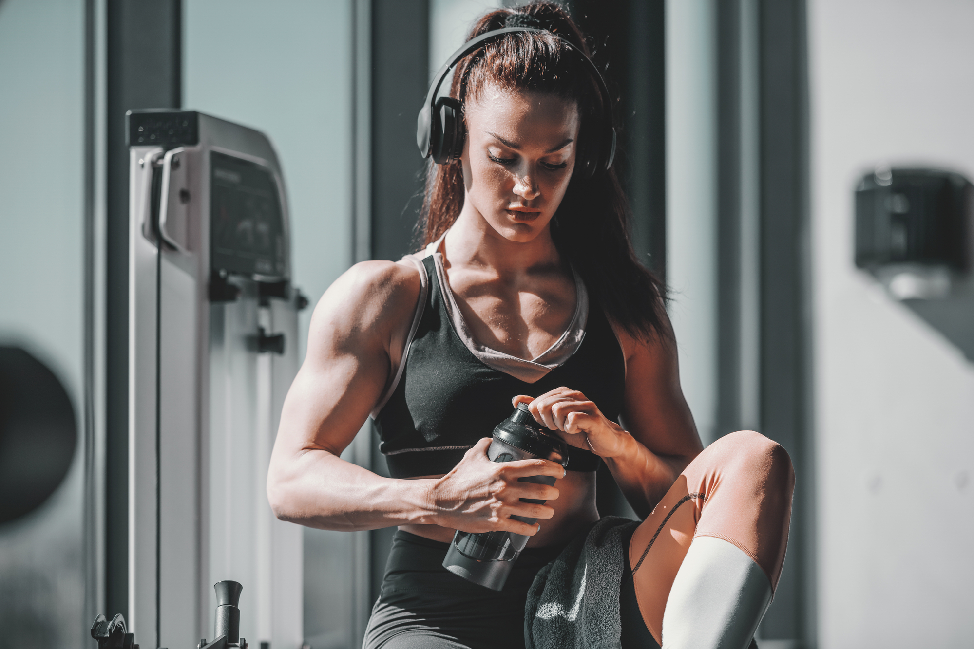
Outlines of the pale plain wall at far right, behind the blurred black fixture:
[[974,365],[852,263],[880,162],[974,177],[974,3],[809,0],[819,638],[974,635]]

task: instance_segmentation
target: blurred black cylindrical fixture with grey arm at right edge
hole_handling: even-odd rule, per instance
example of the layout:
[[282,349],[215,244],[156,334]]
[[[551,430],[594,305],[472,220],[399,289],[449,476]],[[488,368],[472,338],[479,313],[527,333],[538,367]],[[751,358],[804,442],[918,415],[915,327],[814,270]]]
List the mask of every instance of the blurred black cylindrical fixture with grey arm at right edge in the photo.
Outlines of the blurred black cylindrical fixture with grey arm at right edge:
[[855,190],[855,264],[974,359],[974,187],[958,173],[880,166]]

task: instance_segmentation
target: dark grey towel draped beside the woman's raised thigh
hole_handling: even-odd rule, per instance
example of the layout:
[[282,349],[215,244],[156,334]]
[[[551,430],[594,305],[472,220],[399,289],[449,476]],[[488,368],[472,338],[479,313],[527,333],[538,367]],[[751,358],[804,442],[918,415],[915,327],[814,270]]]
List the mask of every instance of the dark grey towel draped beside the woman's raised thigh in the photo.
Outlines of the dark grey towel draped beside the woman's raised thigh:
[[607,516],[545,565],[524,608],[527,649],[617,649],[622,539],[639,522]]

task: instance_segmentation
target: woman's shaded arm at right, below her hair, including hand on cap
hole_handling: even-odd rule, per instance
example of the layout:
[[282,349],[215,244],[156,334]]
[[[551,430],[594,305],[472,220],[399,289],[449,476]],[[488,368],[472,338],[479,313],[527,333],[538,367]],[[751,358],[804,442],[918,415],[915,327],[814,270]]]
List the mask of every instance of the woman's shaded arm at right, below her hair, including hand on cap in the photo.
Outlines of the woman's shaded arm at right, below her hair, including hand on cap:
[[535,418],[560,431],[566,442],[600,455],[633,510],[645,519],[703,445],[680,389],[672,337],[657,335],[644,342],[618,334],[626,358],[619,423],[569,387],[534,400],[518,396],[514,403],[528,403]]

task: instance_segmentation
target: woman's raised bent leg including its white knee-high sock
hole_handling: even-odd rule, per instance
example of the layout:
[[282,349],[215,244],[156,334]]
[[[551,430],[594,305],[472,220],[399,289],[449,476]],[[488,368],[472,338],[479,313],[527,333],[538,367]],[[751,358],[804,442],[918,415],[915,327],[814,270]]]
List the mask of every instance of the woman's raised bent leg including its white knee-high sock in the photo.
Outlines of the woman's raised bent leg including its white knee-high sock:
[[636,528],[636,599],[664,649],[748,646],[781,574],[794,486],[780,445],[731,433],[697,455]]

